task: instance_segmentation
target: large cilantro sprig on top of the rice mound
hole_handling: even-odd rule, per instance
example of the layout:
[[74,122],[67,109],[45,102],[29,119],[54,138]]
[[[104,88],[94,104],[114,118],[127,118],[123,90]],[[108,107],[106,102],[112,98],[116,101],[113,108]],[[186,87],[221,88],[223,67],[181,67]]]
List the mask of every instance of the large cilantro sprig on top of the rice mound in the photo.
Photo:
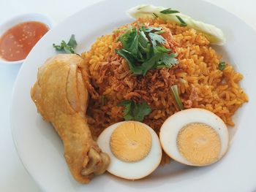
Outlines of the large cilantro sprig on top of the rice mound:
[[178,64],[176,53],[172,53],[163,45],[166,39],[160,34],[165,33],[161,27],[127,28],[127,31],[118,38],[122,48],[116,53],[123,57],[129,69],[135,75],[146,75],[148,70],[171,68]]

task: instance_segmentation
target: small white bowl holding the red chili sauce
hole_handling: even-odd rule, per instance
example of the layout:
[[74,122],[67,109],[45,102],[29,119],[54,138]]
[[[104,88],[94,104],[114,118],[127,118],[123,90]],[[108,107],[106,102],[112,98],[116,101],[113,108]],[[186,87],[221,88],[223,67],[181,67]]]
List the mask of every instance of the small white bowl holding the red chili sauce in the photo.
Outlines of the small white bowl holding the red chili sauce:
[[[50,28],[53,28],[53,20],[48,16],[39,13],[26,13],[23,15],[17,15],[14,18],[11,18],[10,20],[2,23],[0,25],[0,38],[1,35],[4,34],[4,32],[6,32],[8,29],[12,28],[12,26],[26,21],[39,21],[41,23],[45,23],[49,30]],[[4,59],[0,58],[0,64],[22,64],[25,59],[20,61],[5,61]]]

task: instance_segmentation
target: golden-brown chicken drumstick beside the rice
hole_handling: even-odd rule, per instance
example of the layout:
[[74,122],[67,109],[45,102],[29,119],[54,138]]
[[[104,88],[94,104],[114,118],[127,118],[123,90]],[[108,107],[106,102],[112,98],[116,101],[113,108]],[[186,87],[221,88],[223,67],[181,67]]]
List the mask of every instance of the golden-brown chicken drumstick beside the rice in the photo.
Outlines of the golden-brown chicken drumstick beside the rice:
[[89,81],[83,59],[75,54],[49,58],[37,74],[31,98],[45,121],[52,123],[64,144],[64,157],[75,180],[89,183],[110,163],[86,123]]

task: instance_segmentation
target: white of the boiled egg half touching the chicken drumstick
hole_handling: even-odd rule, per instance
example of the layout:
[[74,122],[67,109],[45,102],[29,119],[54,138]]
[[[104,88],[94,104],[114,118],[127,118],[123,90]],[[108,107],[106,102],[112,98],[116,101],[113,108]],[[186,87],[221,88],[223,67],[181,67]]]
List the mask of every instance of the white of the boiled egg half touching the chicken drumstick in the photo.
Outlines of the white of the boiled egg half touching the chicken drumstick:
[[150,152],[142,160],[132,163],[121,161],[116,158],[110,148],[110,137],[113,131],[124,122],[127,121],[115,123],[112,126],[105,128],[105,130],[102,131],[102,134],[99,135],[97,143],[102,151],[108,153],[110,156],[110,165],[107,169],[108,172],[127,180],[138,180],[146,177],[157,169],[157,166],[159,166],[162,159],[162,148],[159,142],[159,137],[155,131],[144,123],[136,122],[143,124],[143,126],[151,133],[152,145]]

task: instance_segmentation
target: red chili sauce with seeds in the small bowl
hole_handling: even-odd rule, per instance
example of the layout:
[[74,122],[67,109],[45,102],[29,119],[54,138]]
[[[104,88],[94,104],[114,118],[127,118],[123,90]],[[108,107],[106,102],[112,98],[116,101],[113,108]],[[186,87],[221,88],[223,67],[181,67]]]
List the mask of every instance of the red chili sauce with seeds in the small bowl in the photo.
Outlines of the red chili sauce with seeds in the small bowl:
[[48,30],[48,26],[37,21],[13,26],[0,37],[0,58],[6,61],[19,61],[26,58]]

